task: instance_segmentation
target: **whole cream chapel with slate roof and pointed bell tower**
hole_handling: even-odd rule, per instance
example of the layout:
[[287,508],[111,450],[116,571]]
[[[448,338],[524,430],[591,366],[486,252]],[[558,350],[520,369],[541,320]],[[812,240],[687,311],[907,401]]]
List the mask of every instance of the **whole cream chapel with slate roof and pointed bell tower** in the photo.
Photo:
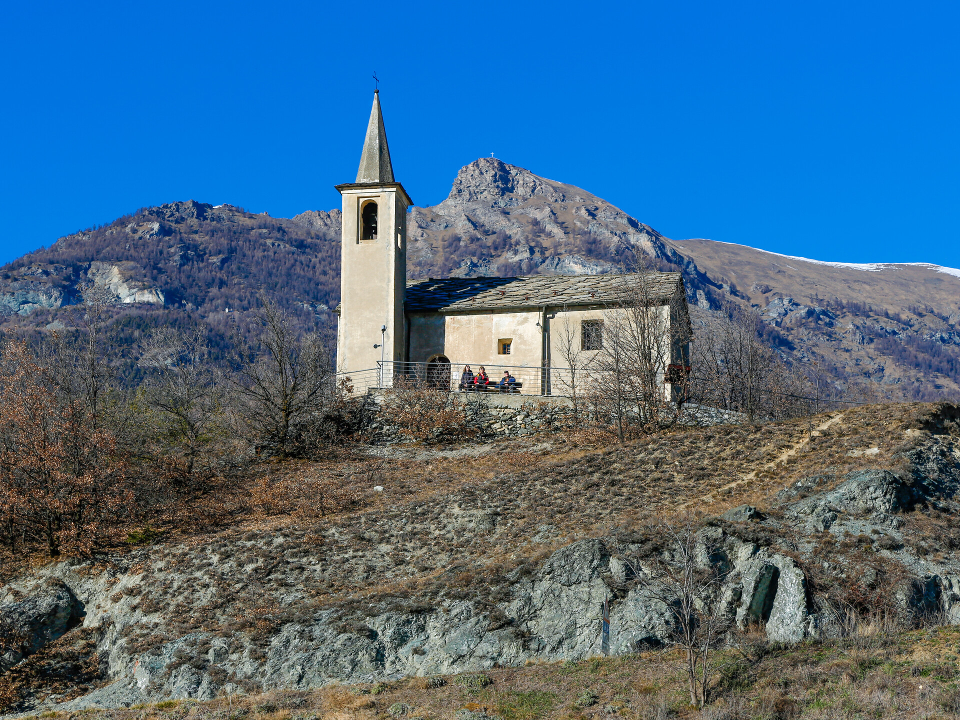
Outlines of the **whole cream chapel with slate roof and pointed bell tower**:
[[[637,275],[445,277],[407,280],[407,208],[394,177],[379,91],[354,182],[343,198],[337,372],[357,390],[391,387],[400,374],[457,378],[483,366],[493,383],[506,373],[514,392],[558,394],[571,348],[588,365],[603,352],[605,324]],[[664,392],[670,369],[688,365],[689,315],[680,273],[646,273],[646,302],[662,314]],[[683,325],[685,332],[673,332]],[[684,340],[686,338],[686,340]],[[444,379],[444,382],[446,380]],[[357,387],[357,386],[360,387]]]

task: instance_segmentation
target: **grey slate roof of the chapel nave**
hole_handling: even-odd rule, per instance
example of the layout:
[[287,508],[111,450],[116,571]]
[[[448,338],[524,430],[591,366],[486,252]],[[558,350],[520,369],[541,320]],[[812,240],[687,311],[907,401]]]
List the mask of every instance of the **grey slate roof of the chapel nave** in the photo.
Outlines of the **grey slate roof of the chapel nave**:
[[[636,275],[444,277],[407,283],[404,310],[416,312],[468,312],[505,310],[544,305],[615,304],[621,289]],[[648,273],[651,294],[661,302],[684,295],[680,273]]]

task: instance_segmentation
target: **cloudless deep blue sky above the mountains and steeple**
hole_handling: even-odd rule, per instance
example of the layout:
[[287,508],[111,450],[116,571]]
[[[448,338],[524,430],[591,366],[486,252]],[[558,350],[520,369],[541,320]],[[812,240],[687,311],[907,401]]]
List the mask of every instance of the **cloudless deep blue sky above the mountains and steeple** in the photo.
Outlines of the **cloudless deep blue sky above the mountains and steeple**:
[[0,260],[175,200],[339,205],[478,156],[669,237],[960,267],[955,3],[4,5]]

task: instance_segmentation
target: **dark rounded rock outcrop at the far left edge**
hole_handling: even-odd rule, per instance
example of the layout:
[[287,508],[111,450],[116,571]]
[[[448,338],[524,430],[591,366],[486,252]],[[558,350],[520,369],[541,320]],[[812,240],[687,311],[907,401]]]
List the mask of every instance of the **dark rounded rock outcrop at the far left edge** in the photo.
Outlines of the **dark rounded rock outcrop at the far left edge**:
[[0,671],[63,635],[79,612],[82,609],[77,598],[58,580],[48,580],[32,588],[22,600],[0,603],[3,623],[0,628],[13,646],[0,655]]

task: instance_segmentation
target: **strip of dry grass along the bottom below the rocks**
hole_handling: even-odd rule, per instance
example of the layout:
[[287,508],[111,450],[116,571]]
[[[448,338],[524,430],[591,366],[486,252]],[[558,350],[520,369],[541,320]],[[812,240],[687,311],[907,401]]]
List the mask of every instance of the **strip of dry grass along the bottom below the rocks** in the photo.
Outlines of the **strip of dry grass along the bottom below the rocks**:
[[[492,669],[492,684],[427,679],[312,692],[274,691],[208,703],[166,702],[98,711],[103,720],[360,720],[401,717],[453,720],[463,708],[504,720],[615,716],[636,720],[777,720],[897,717],[954,718],[960,712],[957,653],[960,630],[932,628],[876,633],[826,644],[790,647],[746,638],[728,651],[714,678],[711,702],[687,705],[684,681],[670,653],[579,662],[531,663]],[[593,697],[592,704],[584,698]],[[580,700],[578,707],[578,699]],[[66,713],[45,713],[63,718]]]

